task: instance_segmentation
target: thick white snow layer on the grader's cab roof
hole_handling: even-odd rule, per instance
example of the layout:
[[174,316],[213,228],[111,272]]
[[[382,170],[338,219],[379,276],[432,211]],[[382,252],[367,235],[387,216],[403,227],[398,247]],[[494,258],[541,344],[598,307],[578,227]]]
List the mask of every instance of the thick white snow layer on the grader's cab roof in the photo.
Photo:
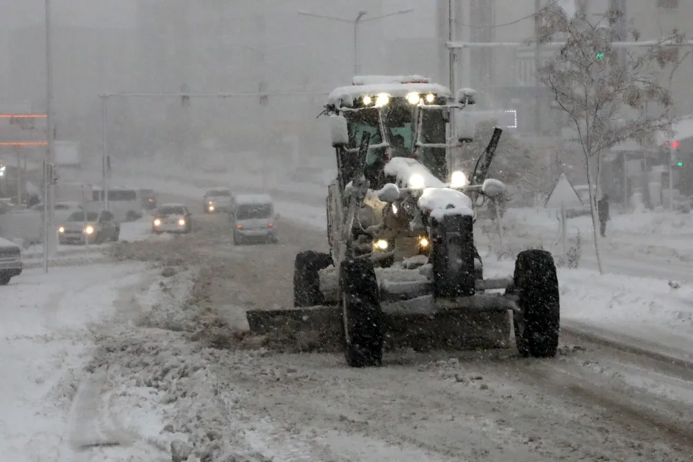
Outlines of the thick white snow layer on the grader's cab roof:
[[442,98],[452,98],[448,87],[430,83],[428,77],[422,76],[356,76],[349,87],[335,88],[328,96],[328,104],[336,105],[340,100],[358,99],[365,95],[385,93],[392,98],[405,97],[416,92],[432,93]]

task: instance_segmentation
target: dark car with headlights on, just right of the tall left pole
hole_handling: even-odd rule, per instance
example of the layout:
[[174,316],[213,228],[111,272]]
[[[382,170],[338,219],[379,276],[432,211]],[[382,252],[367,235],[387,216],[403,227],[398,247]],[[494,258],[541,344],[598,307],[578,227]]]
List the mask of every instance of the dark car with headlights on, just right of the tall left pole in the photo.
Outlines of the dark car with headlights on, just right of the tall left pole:
[[74,212],[58,227],[58,242],[66,244],[100,244],[118,241],[121,224],[108,210]]

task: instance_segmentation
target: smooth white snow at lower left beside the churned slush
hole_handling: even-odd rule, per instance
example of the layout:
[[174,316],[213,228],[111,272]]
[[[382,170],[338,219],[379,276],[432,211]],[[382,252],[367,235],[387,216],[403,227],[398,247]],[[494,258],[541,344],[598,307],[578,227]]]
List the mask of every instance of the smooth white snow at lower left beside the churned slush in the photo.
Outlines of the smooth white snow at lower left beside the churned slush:
[[146,279],[141,264],[27,270],[2,289],[0,454],[7,461],[75,460],[68,413],[94,326]]

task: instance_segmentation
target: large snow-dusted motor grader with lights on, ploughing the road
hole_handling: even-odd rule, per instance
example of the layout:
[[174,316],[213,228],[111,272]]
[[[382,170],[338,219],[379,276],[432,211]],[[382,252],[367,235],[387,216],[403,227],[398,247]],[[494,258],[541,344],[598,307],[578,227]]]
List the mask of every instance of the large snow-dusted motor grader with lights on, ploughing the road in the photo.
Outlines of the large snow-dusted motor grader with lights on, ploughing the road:
[[486,178],[502,130],[468,176],[448,172],[446,150],[471,141],[473,104],[472,89],[453,97],[421,76],[355,77],[331,93],[330,253],[299,253],[294,309],[249,311],[251,332],[332,332],[349,366],[364,367],[384,348],[507,347],[512,316],[521,355],[556,354],[552,255],[525,250],[513,275],[484,279],[474,243],[475,205],[505,193]]

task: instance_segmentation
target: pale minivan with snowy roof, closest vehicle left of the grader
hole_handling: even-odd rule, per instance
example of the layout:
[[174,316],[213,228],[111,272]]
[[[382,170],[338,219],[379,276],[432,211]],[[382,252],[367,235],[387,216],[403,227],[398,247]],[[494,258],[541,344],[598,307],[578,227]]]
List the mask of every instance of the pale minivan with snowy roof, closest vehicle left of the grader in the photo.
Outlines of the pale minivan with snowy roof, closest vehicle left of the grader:
[[244,194],[236,197],[229,221],[234,225],[236,245],[249,240],[277,242],[277,219],[274,200],[267,194]]

